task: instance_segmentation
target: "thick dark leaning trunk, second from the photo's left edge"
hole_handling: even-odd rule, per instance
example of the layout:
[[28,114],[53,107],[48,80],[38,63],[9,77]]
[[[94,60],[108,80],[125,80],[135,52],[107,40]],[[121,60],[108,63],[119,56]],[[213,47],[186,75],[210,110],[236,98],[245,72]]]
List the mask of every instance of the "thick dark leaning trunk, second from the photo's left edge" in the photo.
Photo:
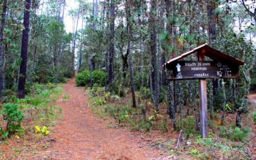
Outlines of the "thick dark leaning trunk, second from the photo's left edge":
[[22,46],[21,46],[21,58],[20,74],[18,81],[18,98],[25,98],[25,83],[26,83],[26,68],[27,68],[27,55],[28,55],[28,34],[29,34],[29,17],[30,17],[30,0],[26,0],[26,10],[24,10],[24,30],[22,32]]

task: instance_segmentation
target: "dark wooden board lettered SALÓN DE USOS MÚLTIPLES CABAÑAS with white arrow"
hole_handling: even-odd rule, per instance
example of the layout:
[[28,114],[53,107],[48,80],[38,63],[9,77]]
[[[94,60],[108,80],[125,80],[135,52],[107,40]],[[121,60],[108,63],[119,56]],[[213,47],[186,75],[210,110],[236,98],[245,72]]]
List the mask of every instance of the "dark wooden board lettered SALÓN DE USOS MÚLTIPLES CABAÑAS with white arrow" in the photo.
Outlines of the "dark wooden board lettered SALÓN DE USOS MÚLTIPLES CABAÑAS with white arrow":
[[218,61],[176,61],[167,69],[173,73],[169,80],[234,78],[238,76],[239,65]]

